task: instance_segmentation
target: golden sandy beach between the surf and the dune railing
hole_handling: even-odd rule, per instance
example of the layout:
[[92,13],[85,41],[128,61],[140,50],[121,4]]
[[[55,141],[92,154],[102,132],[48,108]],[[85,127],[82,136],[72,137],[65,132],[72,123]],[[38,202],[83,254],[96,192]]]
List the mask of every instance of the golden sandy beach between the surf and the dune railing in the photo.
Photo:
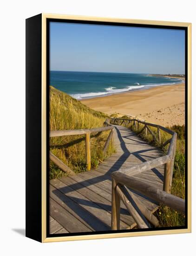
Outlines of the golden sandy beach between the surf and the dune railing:
[[163,126],[185,123],[184,83],[113,94],[81,102],[108,115],[133,115]]

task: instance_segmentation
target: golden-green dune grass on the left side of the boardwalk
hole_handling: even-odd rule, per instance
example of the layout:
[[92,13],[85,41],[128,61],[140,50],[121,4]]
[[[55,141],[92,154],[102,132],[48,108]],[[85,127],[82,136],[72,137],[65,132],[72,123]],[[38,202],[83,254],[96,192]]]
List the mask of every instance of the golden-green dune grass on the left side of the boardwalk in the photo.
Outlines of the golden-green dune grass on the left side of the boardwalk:
[[[103,127],[108,116],[86,107],[68,94],[50,87],[50,131]],[[91,167],[96,168],[115,150],[112,143],[103,154],[105,141],[110,131],[91,135]],[[74,172],[86,171],[85,136],[72,135],[50,138],[50,151]],[[66,175],[50,161],[50,178]]]

